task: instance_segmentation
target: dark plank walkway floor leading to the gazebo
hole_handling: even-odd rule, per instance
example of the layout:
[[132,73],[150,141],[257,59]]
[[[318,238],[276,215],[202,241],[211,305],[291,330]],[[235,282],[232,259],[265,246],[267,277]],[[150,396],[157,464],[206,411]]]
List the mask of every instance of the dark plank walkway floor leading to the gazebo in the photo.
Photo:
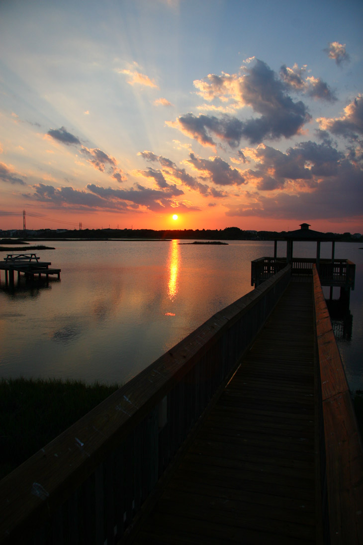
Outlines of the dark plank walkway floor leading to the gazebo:
[[136,545],[320,542],[312,282],[291,282]]

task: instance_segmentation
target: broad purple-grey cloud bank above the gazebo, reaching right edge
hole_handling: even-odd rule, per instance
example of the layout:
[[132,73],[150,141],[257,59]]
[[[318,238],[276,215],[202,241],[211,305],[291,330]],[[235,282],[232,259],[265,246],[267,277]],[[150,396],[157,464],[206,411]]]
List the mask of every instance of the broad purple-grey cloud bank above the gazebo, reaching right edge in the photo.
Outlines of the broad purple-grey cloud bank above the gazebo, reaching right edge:
[[[337,221],[361,217],[363,169],[352,164],[343,153],[326,143],[310,141],[287,150],[286,154],[262,146],[255,151],[259,169],[253,174],[261,174],[257,189],[274,191],[267,196],[245,192],[241,202],[227,206],[227,216]],[[275,185],[268,187],[268,177]],[[286,180],[298,180],[301,184],[287,187]]]

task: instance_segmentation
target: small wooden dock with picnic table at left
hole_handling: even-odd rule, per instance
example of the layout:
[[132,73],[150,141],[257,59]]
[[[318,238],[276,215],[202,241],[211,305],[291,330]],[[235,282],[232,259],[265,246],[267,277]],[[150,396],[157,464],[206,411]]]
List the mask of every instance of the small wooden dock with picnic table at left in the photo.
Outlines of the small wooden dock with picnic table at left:
[[0,271],[5,271],[5,284],[14,284],[15,272],[17,272],[18,280],[20,280],[21,273],[32,280],[34,280],[34,276],[39,278],[45,276],[48,281],[50,275],[57,275],[60,280],[61,269],[50,269],[51,264],[49,261],[40,261],[35,253],[8,253],[7,257],[4,257],[4,261],[0,261]]

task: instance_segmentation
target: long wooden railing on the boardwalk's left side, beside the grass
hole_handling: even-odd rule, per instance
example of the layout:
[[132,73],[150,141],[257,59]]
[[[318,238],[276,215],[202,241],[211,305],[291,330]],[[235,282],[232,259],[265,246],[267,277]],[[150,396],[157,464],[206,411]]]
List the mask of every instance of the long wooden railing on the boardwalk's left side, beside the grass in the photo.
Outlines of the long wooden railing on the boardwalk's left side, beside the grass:
[[251,346],[290,275],[288,265],[214,314],[5,477],[0,542],[116,543]]

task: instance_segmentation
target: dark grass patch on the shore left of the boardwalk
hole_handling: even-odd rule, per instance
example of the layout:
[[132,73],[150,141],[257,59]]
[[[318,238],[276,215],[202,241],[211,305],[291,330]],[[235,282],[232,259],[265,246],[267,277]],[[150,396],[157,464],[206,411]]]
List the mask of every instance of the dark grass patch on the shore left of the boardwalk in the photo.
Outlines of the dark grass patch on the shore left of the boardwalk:
[[0,479],[119,388],[57,379],[0,380]]

